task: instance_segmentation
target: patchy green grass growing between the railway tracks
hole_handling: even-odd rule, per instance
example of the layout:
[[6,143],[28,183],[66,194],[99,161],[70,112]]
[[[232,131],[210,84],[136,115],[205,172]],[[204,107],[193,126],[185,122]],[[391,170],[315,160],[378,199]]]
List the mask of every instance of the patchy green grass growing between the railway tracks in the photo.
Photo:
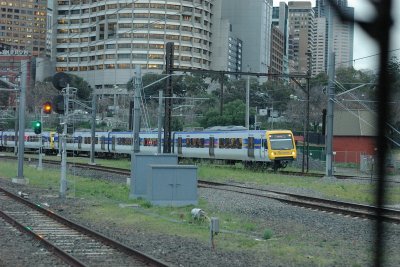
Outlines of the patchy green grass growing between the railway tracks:
[[[115,164],[112,164],[112,166],[115,166]],[[29,178],[29,186],[37,186],[58,193],[59,170],[45,169],[38,171],[34,167],[25,165],[24,172],[25,176]],[[8,161],[0,162],[0,173],[2,177],[9,179],[15,177],[17,164]],[[353,188],[347,184],[319,183],[317,178],[253,172],[245,170],[241,166],[213,168],[212,166],[202,165],[199,167],[199,176],[201,179],[216,181],[250,181],[254,184],[304,187],[342,196],[354,195],[354,191],[357,190],[360,195],[362,190],[365,190],[364,195],[373,194],[371,187]],[[144,199],[129,199],[129,188],[125,185],[71,175],[68,175],[68,180],[70,182],[69,194],[86,198],[93,203],[82,207],[83,211],[77,214],[82,219],[109,223],[115,225],[115,227],[135,228],[149,234],[156,232],[177,235],[209,244],[209,222],[208,220],[194,220],[191,217],[190,212],[194,206],[157,207]],[[135,205],[122,208],[118,205],[120,203]],[[340,262],[337,262],[340,255],[332,255],[331,253],[337,250],[338,246],[343,247],[344,250],[346,248],[345,241],[338,243],[337,240],[327,240],[321,244],[320,240],[314,241],[313,237],[309,237],[308,234],[303,236],[306,231],[302,231],[302,229],[299,231],[298,228],[301,226],[296,224],[287,225],[290,224],[289,222],[282,222],[286,223],[287,229],[290,229],[287,230],[288,233],[282,235],[279,230],[266,228],[268,225],[265,224],[259,225],[245,215],[222,213],[213,209],[204,199],[199,199],[199,205],[196,207],[206,211],[207,216],[220,219],[220,229],[224,232],[215,237],[218,250],[250,252],[254,257],[279,259],[281,266],[340,266]],[[258,235],[259,239],[263,240],[256,240],[253,238],[254,235]],[[360,255],[362,259],[367,257]],[[354,262],[358,264],[357,259]],[[361,263],[363,262],[360,261]]]

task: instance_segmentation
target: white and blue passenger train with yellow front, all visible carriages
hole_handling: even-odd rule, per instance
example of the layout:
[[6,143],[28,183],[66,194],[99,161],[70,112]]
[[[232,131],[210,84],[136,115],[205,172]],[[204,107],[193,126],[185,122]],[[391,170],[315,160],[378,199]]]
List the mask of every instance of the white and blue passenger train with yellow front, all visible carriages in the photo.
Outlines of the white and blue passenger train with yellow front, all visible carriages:
[[[285,168],[296,159],[296,145],[290,130],[204,130],[172,133],[172,153],[181,158],[210,159],[228,163],[243,162],[246,166]],[[97,131],[96,156],[130,155],[132,132]],[[156,153],[157,132],[140,132],[140,152]],[[38,150],[40,135],[25,133],[25,150]],[[56,154],[61,147],[56,132],[43,132],[43,151]],[[161,140],[163,146],[163,139]],[[0,131],[0,150],[13,151],[16,147],[14,131]],[[90,131],[75,131],[67,137],[67,151],[76,155],[89,154],[92,137]]]

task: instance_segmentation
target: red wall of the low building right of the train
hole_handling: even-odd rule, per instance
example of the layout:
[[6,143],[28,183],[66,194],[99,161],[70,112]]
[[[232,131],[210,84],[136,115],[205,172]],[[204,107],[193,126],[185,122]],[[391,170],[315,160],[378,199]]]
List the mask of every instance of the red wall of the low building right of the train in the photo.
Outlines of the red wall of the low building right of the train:
[[371,136],[335,136],[333,151],[335,162],[359,163],[360,154],[373,155],[375,151],[375,137]]

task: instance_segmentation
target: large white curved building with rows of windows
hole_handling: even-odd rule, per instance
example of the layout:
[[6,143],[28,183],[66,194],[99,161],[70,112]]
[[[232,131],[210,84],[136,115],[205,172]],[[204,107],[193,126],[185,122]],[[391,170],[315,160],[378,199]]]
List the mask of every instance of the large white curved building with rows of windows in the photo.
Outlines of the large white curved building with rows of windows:
[[209,69],[214,0],[57,0],[56,70],[97,89],[124,87],[134,75],[164,70],[165,44],[175,67]]

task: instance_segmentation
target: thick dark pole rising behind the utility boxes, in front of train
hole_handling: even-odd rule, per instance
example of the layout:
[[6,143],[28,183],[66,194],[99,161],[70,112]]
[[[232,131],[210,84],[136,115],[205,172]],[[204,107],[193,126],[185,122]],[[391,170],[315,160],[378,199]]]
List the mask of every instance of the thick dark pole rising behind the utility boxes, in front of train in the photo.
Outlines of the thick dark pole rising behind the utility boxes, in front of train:
[[164,153],[171,153],[172,68],[174,67],[173,42],[167,43],[165,53],[165,69],[169,76],[165,88]]

